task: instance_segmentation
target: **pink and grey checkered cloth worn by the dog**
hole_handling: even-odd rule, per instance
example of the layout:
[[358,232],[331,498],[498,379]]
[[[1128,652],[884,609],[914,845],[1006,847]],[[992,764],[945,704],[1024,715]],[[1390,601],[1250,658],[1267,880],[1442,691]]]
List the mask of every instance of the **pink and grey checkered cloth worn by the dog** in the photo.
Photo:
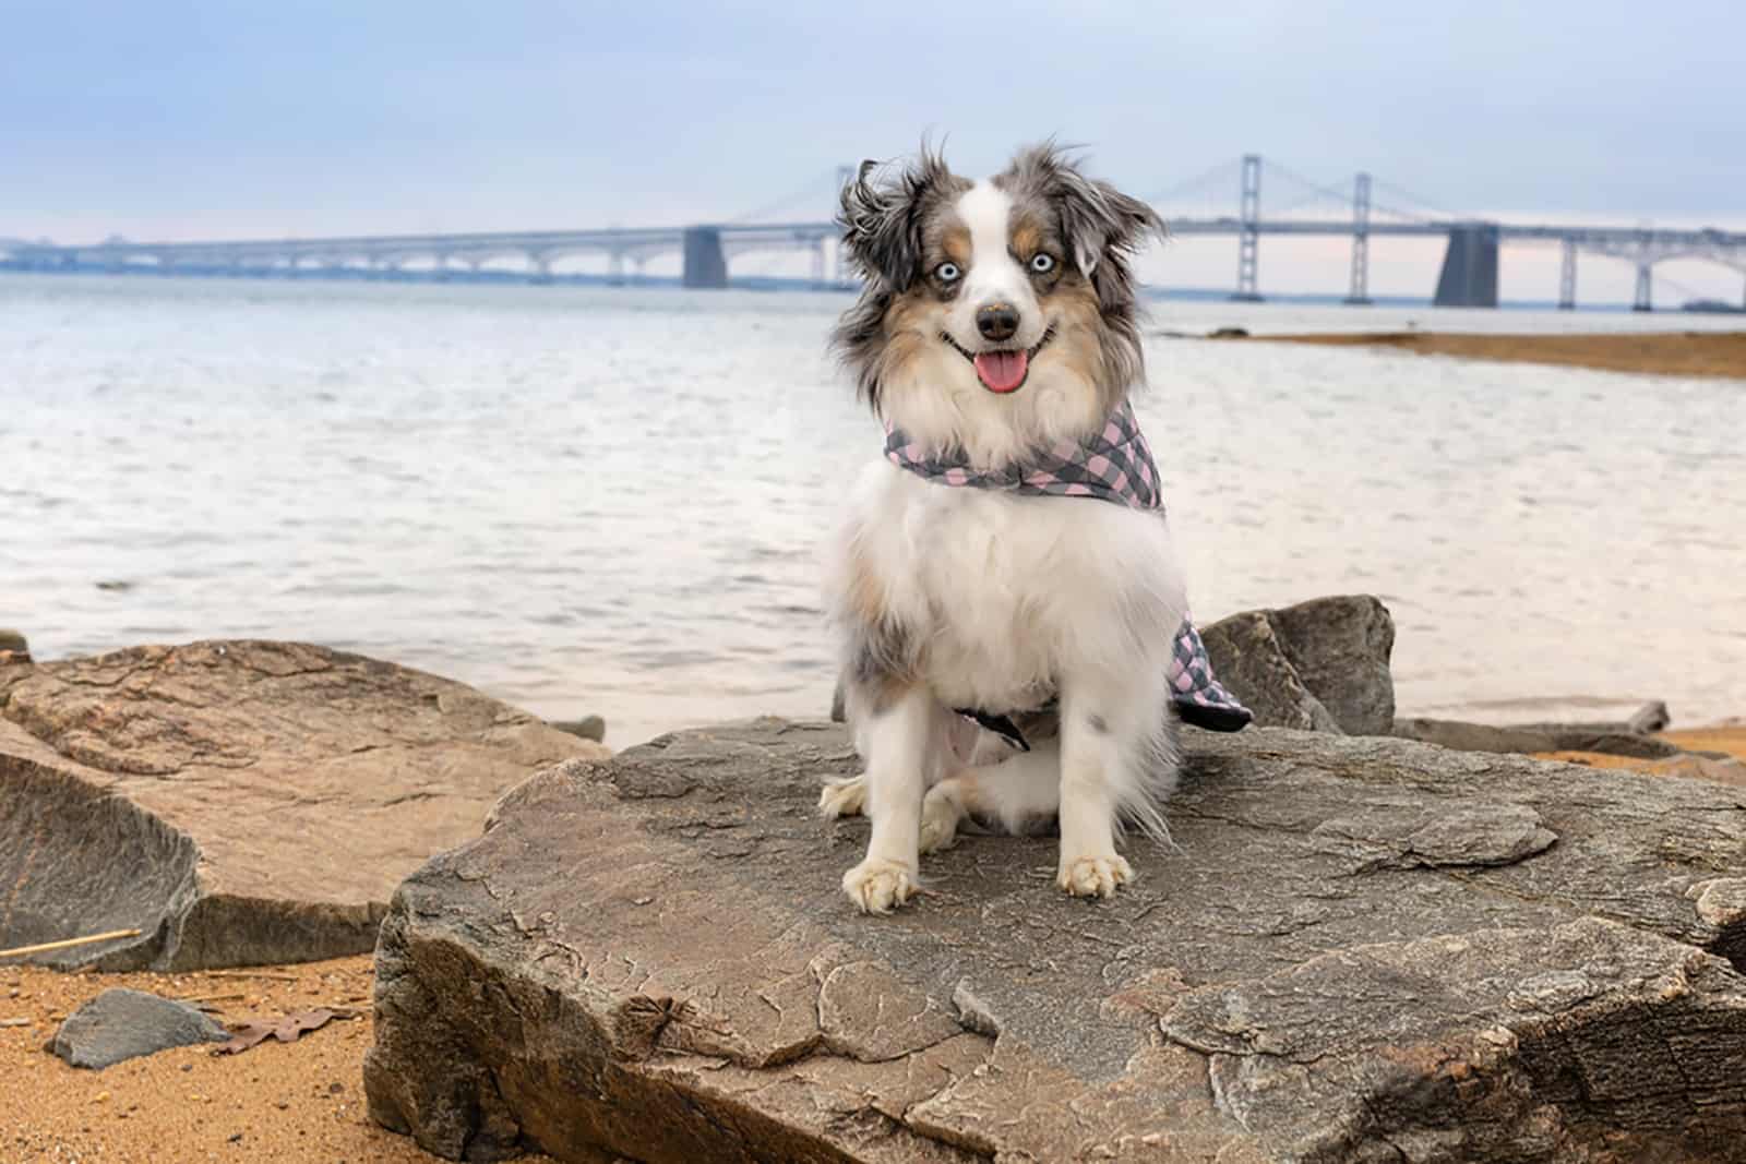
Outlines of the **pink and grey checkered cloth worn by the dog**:
[[[1121,401],[1100,433],[1084,442],[1063,442],[1039,450],[1025,464],[1002,469],[973,469],[962,450],[929,455],[903,429],[885,426],[885,457],[917,476],[939,485],[969,485],[1049,497],[1095,497],[1131,510],[1156,510],[1163,517],[1158,462],[1145,445],[1133,407]],[[1184,618],[1172,642],[1170,693],[1184,722],[1212,731],[1241,731],[1254,714],[1212,674],[1212,660],[1194,620]],[[1004,716],[964,710],[985,728],[1018,747],[1025,738]]]

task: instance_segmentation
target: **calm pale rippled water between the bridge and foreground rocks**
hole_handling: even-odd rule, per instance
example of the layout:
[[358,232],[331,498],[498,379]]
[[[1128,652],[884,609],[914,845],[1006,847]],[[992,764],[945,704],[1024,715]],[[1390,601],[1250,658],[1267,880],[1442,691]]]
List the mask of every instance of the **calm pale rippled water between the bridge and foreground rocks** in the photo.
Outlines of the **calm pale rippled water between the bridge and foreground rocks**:
[[[0,276],[0,625],[262,635],[609,740],[817,714],[817,544],[880,431],[828,295]],[[1725,319],[1163,304],[1158,330]],[[1152,339],[1203,621],[1395,613],[1402,710],[1746,714],[1746,382]],[[124,583],[100,588],[98,583]]]

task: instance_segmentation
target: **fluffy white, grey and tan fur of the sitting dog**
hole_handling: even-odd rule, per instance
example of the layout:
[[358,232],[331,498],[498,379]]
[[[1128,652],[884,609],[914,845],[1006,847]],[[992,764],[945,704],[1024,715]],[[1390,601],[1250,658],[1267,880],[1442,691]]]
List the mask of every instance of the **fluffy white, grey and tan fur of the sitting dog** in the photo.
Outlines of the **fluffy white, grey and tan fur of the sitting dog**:
[[[925,147],[897,173],[866,162],[840,223],[866,284],[835,347],[873,410],[924,448],[1006,466],[1095,433],[1140,386],[1128,264],[1163,227],[1055,147],[974,183]],[[1007,326],[988,326],[997,305]],[[974,358],[995,351],[1027,353],[1016,391],[981,377]],[[880,459],[849,499],[828,600],[866,773],[826,787],[821,806],[871,818],[866,859],[843,874],[861,909],[903,904],[918,855],[950,845],[966,815],[1016,832],[1058,813],[1069,894],[1107,897],[1133,876],[1121,825],[1163,836],[1175,784],[1166,672],[1186,599],[1158,513],[953,489]],[[1032,719],[1030,752],[952,712],[1051,696],[1058,714]]]

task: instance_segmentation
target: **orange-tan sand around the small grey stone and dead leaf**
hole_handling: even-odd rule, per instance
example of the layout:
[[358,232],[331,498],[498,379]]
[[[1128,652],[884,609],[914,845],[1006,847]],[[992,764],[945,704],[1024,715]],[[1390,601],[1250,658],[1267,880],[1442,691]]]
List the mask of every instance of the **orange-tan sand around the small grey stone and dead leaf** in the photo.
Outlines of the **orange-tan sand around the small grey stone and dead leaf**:
[[[58,974],[0,965],[0,1161],[182,1164],[271,1161],[431,1164],[409,1138],[370,1122],[363,1052],[370,1045],[370,958],[210,974]],[[112,986],[208,998],[223,1023],[347,1007],[295,1044],[267,1040],[236,1056],[178,1047],[103,1072],[47,1054],[59,1019]],[[552,1164],[550,1157],[524,1161]]]

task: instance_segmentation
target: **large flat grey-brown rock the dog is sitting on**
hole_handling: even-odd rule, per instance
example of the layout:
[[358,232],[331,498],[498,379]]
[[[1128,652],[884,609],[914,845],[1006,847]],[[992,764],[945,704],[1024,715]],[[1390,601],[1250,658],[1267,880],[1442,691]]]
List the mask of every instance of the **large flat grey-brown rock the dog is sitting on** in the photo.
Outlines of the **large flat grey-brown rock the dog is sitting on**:
[[828,724],[517,787],[395,895],[370,1112],[562,1161],[1746,1159],[1746,796],[1187,733],[1142,880],[966,838],[852,913]]

